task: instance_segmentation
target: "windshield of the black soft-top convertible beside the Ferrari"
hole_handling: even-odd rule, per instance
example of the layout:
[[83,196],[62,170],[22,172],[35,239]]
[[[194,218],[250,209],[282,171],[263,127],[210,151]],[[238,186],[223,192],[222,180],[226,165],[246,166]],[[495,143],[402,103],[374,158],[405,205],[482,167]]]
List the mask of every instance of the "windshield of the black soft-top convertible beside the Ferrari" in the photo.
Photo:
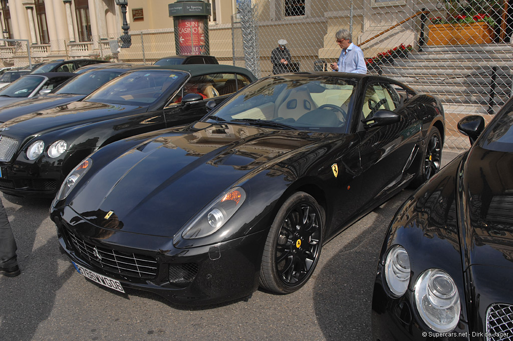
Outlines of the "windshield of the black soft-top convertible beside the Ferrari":
[[149,105],[174,92],[187,73],[167,70],[138,70],[121,75],[91,93],[85,101]]

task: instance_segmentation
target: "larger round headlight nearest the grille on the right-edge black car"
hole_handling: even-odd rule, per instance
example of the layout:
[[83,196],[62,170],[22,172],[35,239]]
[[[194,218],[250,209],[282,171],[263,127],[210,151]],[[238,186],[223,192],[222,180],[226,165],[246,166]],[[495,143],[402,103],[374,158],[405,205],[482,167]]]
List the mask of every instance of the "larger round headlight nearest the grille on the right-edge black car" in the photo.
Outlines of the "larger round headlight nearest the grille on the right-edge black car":
[[460,295],[443,270],[429,269],[415,285],[415,304],[424,322],[437,332],[452,331],[460,319]]

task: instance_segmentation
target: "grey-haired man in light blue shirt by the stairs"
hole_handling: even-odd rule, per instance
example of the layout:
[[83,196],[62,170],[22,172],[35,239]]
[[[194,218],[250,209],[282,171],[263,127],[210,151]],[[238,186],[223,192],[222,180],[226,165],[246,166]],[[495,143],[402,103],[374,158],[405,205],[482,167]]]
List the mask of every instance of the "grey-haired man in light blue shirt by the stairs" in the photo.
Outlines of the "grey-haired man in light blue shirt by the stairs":
[[335,39],[342,52],[339,62],[333,63],[331,68],[339,72],[367,73],[363,51],[352,43],[351,34],[348,30],[342,29],[335,33]]

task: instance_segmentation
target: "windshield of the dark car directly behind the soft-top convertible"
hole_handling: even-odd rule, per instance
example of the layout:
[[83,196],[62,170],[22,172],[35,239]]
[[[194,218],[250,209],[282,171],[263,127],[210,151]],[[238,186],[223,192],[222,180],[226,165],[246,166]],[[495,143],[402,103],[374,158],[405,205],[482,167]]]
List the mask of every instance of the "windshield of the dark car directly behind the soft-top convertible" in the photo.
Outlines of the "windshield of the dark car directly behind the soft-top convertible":
[[59,94],[89,94],[110,80],[113,80],[125,70],[94,70],[78,75],[55,91]]

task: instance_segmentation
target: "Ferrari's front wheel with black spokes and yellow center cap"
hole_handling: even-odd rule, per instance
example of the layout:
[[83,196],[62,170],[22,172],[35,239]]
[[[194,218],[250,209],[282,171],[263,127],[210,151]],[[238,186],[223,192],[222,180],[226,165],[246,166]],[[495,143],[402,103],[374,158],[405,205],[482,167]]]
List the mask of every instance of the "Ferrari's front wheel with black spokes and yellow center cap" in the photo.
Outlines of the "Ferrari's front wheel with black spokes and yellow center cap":
[[324,220],[324,210],[307,193],[294,193],[283,203],[265,242],[262,288],[288,294],[305,285],[321,254]]

